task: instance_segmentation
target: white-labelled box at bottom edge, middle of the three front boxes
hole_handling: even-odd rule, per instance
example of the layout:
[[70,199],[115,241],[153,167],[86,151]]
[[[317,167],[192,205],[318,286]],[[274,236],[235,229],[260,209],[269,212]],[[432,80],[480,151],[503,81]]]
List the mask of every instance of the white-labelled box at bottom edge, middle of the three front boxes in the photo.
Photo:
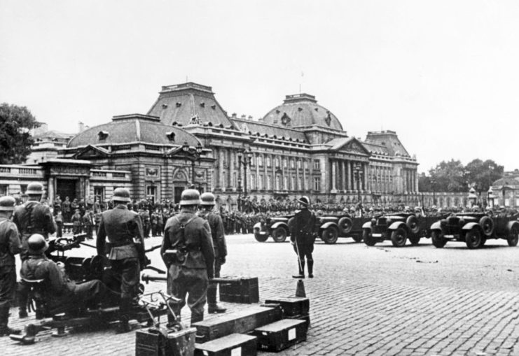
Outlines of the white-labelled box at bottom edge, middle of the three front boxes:
[[230,334],[220,339],[197,343],[195,356],[256,356],[256,337]]

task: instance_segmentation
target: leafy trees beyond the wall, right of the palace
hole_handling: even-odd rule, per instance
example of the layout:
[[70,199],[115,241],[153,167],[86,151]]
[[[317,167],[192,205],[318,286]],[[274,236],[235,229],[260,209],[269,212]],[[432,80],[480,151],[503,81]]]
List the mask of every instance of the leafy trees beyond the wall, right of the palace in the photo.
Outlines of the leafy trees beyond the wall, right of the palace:
[[418,189],[420,192],[468,192],[474,187],[478,192],[486,192],[503,172],[504,167],[492,159],[473,159],[466,166],[451,159],[437,164],[429,171],[429,176],[421,176]]

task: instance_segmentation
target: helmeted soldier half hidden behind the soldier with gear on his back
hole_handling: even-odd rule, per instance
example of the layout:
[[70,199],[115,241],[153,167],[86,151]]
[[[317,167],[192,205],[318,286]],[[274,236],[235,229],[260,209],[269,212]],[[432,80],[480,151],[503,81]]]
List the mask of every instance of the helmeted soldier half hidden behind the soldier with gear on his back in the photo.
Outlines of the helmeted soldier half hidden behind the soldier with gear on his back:
[[[198,212],[200,218],[209,222],[211,236],[214,247],[214,277],[220,278],[221,265],[226,263],[227,244],[226,236],[223,233],[223,221],[220,215],[214,213],[214,195],[206,192],[200,196],[201,211]],[[218,284],[210,283],[207,289],[207,311],[211,313],[225,313],[226,309],[216,303]]]

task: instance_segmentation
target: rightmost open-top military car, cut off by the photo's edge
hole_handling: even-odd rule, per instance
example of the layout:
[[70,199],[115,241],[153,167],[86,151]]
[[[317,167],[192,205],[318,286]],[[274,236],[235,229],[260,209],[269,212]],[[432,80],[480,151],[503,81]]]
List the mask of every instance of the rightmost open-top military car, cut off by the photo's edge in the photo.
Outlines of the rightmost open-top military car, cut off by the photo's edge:
[[466,243],[468,248],[480,248],[489,238],[504,238],[509,246],[519,240],[518,215],[490,216],[485,213],[452,214],[431,225],[434,246],[443,248],[448,241]]

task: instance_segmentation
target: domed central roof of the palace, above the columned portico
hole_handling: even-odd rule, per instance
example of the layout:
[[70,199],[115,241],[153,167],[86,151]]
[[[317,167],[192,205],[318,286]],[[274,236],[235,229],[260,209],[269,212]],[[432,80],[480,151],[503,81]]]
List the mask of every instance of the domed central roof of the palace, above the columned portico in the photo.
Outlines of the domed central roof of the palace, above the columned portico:
[[263,118],[265,124],[284,127],[310,127],[317,125],[327,129],[342,130],[338,118],[310,94],[287,95],[282,105],[276,106]]

